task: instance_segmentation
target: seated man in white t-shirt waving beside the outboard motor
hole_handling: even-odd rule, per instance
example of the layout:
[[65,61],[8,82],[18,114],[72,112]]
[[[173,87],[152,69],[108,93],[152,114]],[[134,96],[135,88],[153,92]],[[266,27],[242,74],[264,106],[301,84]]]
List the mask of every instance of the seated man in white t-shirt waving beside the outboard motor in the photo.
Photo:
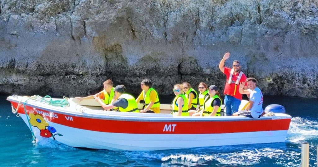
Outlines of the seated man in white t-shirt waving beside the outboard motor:
[[250,94],[249,104],[245,110],[234,113],[232,116],[246,116],[250,118],[259,118],[263,114],[263,94],[262,91],[256,87],[255,78],[247,78],[247,87],[249,89],[244,90],[245,82],[239,86],[240,94]]

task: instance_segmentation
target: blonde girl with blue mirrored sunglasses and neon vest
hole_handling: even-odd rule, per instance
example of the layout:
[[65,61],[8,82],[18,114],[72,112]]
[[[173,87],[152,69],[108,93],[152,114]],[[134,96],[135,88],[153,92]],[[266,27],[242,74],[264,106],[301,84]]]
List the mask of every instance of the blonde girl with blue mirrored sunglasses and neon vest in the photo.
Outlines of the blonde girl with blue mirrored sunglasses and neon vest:
[[173,92],[176,95],[175,99],[172,101],[172,115],[174,116],[189,116],[188,113],[188,99],[183,94],[181,84],[176,84],[173,87]]

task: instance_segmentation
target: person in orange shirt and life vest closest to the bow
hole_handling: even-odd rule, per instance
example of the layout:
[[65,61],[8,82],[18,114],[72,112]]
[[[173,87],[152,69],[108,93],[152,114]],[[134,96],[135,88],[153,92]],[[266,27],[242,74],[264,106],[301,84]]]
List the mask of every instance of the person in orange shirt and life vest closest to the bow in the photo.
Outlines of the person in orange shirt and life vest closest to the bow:
[[112,99],[114,98],[114,87],[112,80],[106,80],[104,83],[104,90],[100,91],[98,94],[87,96],[87,97],[75,97],[79,101],[85,99],[94,99],[95,96],[98,96],[105,104],[110,104]]

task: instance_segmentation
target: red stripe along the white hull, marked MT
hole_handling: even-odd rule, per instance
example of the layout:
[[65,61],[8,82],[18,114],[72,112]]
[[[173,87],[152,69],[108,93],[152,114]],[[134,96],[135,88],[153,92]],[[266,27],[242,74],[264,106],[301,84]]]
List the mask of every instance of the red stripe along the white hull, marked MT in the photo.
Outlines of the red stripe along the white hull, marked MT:
[[[17,103],[12,102],[17,108]],[[249,121],[142,122],[102,120],[53,113],[26,106],[27,113],[39,114],[49,122],[68,127],[110,133],[130,134],[220,134],[256,131],[288,130],[291,119]],[[18,113],[25,114],[23,104]],[[166,129],[165,129],[166,126]]]

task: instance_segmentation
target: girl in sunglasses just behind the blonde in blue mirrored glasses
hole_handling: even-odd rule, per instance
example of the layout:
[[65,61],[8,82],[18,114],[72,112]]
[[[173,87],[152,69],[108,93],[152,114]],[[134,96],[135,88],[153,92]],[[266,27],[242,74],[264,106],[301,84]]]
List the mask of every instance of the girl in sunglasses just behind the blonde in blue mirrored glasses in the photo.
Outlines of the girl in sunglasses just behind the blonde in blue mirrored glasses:
[[195,110],[197,108],[197,102],[198,102],[197,92],[191,87],[191,85],[188,82],[183,82],[182,87],[183,87],[183,94],[188,99],[189,110]]

